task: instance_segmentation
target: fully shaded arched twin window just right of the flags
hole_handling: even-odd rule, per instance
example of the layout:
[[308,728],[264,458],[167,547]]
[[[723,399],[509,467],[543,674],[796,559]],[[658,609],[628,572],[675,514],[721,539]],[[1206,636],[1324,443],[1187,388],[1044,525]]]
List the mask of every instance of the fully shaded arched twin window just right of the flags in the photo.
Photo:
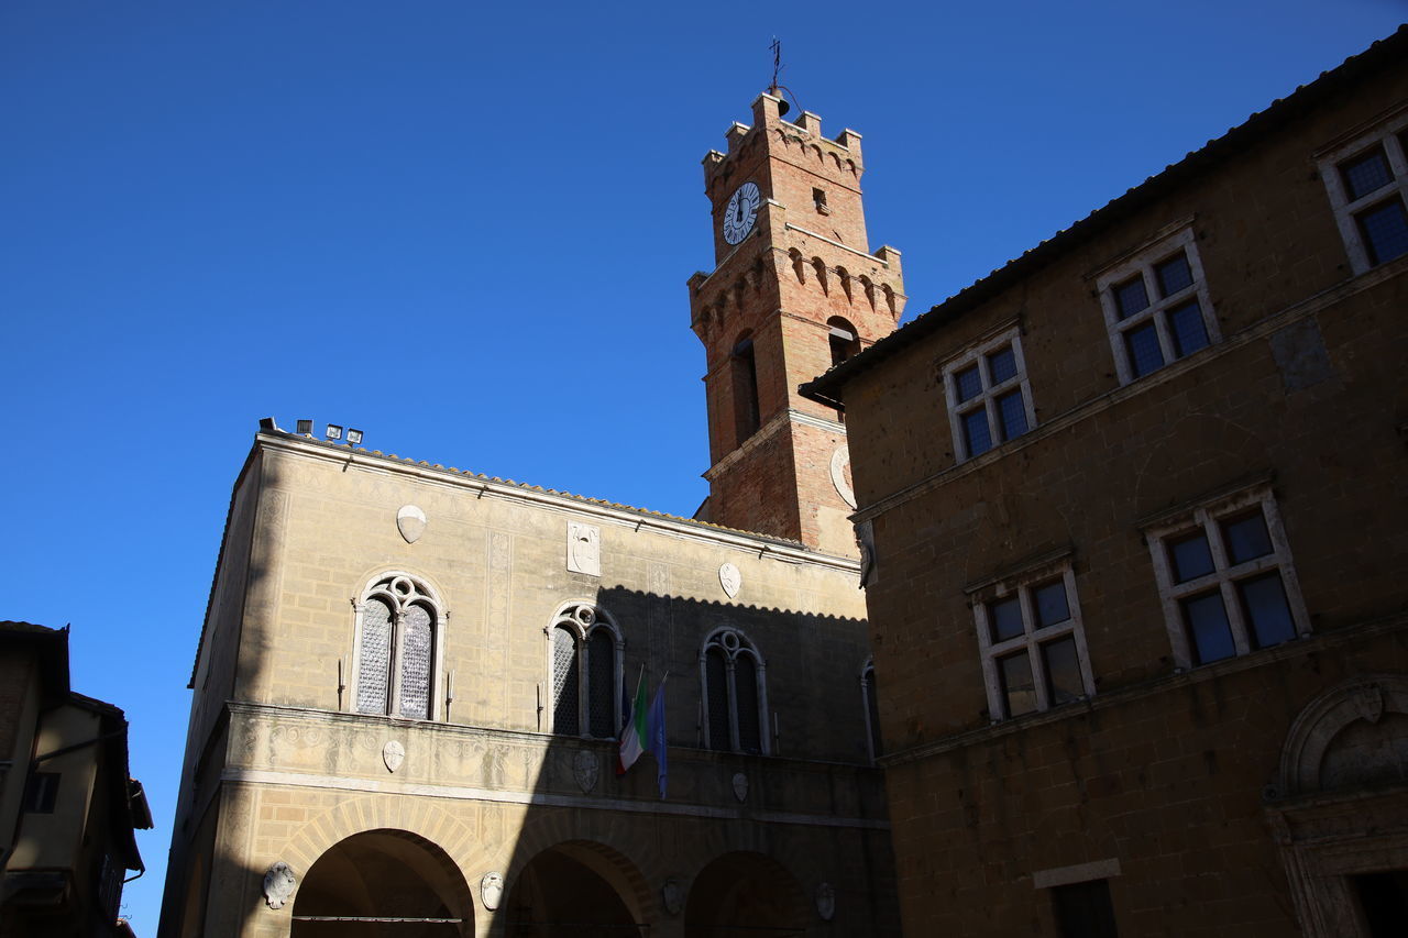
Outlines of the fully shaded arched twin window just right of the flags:
[[735,628],[710,634],[700,652],[700,683],[704,745],[767,755],[767,670],[748,637]]

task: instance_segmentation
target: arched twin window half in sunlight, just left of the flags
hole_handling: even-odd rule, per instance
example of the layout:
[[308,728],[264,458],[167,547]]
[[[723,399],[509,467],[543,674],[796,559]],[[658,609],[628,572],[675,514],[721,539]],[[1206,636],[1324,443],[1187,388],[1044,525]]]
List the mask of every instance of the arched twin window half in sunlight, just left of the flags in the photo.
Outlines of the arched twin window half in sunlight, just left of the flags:
[[611,615],[590,603],[567,603],[552,627],[552,732],[612,739],[621,727],[621,659],[625,642]]

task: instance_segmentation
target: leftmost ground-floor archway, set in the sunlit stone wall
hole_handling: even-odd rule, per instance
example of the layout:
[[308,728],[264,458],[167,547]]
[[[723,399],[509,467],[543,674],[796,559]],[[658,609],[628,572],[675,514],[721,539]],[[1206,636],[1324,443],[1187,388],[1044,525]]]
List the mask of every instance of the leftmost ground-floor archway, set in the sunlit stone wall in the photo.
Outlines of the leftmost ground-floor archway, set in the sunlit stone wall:
[[303,877],[291,938],[453,938],[474,934],[469,887],[435,844],[406,831],[353,834]]

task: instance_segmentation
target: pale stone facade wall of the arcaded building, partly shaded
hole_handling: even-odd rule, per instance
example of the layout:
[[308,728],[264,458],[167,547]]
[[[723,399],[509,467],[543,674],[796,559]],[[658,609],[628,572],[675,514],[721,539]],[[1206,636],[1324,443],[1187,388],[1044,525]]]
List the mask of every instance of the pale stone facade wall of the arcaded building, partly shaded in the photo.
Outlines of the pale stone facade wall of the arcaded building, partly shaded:
[[[893,930],[853,562],[284,434],[260,435],[256,449],[251,556],[260,573],[244,604],[228,731],[213,737],[208,748],[221,748],[204,763],[218,792],[208,807],[183,801],[177,818],[187,859],[168,884],[163,935],[286,935],[290,907],[263,903],[265,872],[286,862],[306,873],[334,844],[383,828],[446,851],[472,886],[498,872],[510,889],[543,849],[590,841],[634,870],[634,914],[660,934],[683,927],[660,908],[666,877],[687,892],[710,861],[752,851],[808,894],[832,884],[835,934]],[[397,528],[407,504],[427,518],[414,542]],[[572,524],[598,530],[600,575],[569,569]],[[732,597],[724,563],[739,572]],[[434,590],[446,611],[429,721],[352,713],[353,604],[393,570]],[[628,690],[642,670],[652,692],[669,675],[666,800],[649,756],[618,779],[614,741],[548,732],[549,627],[569,601],[620,627]],[[700,655],[725,625],[766,663],[772,756],[698,748]],[[393,741],[404,752],[394,770]],[[808,928],[824,924],[811,915]],[[466,934],[501,925],[480,904]]]

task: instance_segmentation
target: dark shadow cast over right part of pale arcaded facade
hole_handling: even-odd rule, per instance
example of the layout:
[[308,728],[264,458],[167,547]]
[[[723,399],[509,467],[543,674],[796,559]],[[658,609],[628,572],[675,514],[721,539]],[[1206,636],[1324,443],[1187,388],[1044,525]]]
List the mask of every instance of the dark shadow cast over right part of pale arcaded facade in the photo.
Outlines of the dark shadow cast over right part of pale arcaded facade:
[[[666,797],[649,753],[618,776],[617,739],[538,737],[541,770],[490,934],[897,935],[883,779],[866,741],[866,623],[620,586],[594,601],[624,638],[611,677],[624,676],[621,696],[642,680],[649,700],[665,679]],[[704,654],[719,630],[760,658],[770,755],[734,751],[732,738],[705,745]]]

